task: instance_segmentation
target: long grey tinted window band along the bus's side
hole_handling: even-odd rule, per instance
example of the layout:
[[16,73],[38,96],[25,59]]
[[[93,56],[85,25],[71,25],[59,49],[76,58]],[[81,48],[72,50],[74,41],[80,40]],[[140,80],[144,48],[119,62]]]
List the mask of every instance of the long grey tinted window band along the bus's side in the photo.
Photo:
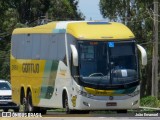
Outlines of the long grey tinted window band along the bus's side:
[[25,34],[12,36],[12,55],[17,59],[63,60],[64,34]]

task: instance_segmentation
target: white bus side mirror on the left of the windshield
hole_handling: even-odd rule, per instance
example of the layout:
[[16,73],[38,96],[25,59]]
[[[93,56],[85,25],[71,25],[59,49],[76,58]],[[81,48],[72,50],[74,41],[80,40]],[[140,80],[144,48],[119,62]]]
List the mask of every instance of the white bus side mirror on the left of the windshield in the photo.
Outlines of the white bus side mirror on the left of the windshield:
[[70,45],[71,46],[71,51],[72,51],[72,60],[73,60],[73,65],[78,66],[78,52],[75,47],[75,45]]

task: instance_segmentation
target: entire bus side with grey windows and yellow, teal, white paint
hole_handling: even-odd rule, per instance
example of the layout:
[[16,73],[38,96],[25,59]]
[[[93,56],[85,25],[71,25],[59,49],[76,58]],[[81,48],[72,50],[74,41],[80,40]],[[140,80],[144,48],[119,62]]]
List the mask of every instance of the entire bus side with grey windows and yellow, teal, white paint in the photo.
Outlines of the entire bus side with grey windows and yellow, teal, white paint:
[[[64,33],[13,35],[11,80],[14,101],[19,103],[20,88],[24,86],[26,95],[27,89],[31,90],[34,106],[62,107],[63,88],[71,89],[69,63],[73,42],[65,43],[64,36]],[[16,69],[12,70],[14,67]],[[69,92],[68,96],[71,94]]]

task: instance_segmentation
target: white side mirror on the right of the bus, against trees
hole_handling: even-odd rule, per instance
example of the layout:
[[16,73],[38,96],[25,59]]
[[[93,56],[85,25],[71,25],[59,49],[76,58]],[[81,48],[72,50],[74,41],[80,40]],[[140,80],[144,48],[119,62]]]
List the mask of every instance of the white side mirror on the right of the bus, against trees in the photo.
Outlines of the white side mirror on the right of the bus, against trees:
[[139,44],[137,44],[137,47],[141,52],[142,65],[147,65],[147,53],[146,53],[146,50]]

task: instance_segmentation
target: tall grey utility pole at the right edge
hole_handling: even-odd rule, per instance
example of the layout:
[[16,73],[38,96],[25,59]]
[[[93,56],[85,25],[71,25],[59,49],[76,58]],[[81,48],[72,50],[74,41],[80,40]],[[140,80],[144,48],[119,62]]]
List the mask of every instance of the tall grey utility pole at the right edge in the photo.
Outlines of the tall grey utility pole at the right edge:
[[154,0],[154,43],[152,57],[152,96],[158,98],[158,0]]

